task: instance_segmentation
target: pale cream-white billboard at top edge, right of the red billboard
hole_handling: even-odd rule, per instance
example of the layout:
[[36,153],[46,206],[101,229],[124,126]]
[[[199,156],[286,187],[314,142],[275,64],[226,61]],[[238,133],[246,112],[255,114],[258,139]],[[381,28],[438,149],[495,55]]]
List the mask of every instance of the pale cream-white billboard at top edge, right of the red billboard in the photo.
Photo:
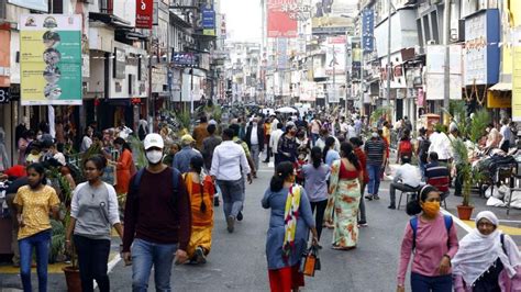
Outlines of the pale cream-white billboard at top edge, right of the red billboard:
[[357,1],[312,0],[312,34],[345,34],[354,26]]

